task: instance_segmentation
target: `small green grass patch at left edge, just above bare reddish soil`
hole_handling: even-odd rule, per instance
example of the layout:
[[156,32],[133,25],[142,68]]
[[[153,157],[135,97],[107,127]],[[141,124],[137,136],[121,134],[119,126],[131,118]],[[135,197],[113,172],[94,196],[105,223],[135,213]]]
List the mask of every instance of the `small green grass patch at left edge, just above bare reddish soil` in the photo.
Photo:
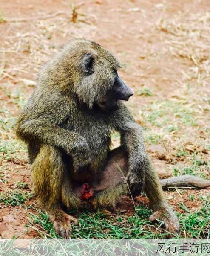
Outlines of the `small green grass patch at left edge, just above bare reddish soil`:
[[32,193],[22,192],[21,190],[7,191],[6,193],[0,193],[0,203],[6,206],[20,206],[32,196]]

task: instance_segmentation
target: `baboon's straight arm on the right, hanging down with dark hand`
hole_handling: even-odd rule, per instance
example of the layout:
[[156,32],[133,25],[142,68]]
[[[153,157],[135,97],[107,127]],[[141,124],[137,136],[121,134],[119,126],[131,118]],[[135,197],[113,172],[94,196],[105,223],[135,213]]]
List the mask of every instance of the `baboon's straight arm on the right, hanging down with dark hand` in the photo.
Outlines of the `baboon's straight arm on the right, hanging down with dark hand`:
[[123,104],[115,115],[115,129],[120,132],[121,144],[128,152],[128,185],[135,196],[140,193],[144,185],[145,170],[149,165],[142,128]]

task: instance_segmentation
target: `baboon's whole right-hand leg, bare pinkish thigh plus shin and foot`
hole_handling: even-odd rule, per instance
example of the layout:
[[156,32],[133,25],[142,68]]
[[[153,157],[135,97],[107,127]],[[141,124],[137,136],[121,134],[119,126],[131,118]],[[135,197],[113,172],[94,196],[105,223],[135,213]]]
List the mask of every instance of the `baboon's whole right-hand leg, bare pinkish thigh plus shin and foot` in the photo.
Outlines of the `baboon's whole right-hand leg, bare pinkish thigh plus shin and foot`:
[[[164,221],[166,230],[176,234],[179,231],[179,221],[175,212],[170,208],[165,199],[159,177],[153,167],[145,166],[145,186],[144,190],[150,200],[150,207],[154,210],[150,216],[151,221],[157,218]],[[114,205],[116,199],[122,192],[122,182],[128,173],[128,156],[123,147],[112,150],[109,154],[107,165],[102,172],[100,184],[96,184],[98,191],[102,190],[96,196],[100,205]]]

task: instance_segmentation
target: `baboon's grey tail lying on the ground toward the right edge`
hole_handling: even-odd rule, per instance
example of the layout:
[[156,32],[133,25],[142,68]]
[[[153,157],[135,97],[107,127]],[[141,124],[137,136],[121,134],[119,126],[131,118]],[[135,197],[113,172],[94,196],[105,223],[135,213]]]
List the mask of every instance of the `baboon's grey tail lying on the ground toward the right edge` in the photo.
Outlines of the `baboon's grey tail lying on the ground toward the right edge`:
[[205,180],[204,178],[187,174],[178,177],[163,179],[160,180],[160,183],[163,189],[180,186],[203,189],[207,186],[210,186],[210,180]]

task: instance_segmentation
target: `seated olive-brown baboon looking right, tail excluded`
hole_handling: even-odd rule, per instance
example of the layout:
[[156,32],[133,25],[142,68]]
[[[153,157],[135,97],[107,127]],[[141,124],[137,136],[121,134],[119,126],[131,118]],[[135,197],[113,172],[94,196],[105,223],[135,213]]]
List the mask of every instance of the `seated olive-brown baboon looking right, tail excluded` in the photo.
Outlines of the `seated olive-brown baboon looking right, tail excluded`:
[[[28,146],[34,193],[64,238],[71,236],[70,223],[77,224],[66,211],[114,206],[127,185],[133,197],[146,192],[151,221],[162,219],[170,233],[179,231],[145,151],[142,128],[123,103],[133,91],[119,78],[119,68],[99,44],[71,40],[40,70],[17,122],[17,135]],[[114,150],[112,131],[121,135]]]

